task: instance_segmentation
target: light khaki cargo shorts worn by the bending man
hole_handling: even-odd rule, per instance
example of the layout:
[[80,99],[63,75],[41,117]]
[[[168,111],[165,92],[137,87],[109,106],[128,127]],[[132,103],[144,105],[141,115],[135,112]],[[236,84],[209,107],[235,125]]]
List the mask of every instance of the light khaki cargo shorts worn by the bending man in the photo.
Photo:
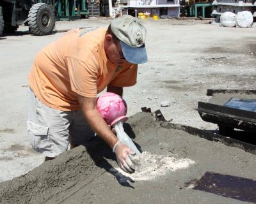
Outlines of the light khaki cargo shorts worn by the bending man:
[[44,105],[28,90],[29,142],[33,149],[47,157],[55,157],[68,149],[68,143],[86,145],[95,133],[81,110],[62,111]]

